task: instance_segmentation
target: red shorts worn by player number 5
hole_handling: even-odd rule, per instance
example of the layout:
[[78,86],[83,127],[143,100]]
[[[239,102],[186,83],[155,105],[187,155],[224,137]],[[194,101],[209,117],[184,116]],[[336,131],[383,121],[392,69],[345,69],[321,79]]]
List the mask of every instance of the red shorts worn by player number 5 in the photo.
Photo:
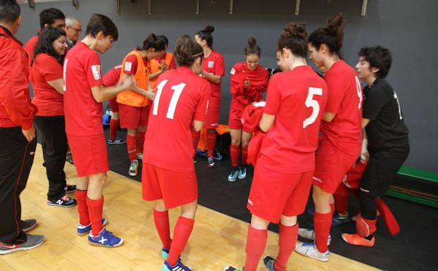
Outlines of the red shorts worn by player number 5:
[[247,208],[253,215],[278,223],[281,215],[300,215],[306,208],[314,171],[283,173],[257,164]]

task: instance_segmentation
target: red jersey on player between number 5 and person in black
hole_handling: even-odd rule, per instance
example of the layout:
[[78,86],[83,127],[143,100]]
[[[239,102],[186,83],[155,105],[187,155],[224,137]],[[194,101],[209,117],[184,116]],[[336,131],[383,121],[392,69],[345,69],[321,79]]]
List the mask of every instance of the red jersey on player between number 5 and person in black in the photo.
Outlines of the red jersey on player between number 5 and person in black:
[[323,121],[321,132],[336,149],[352,158],[359,157],[362,141],[362,89],[356,71],[337,61],[324,74],[328,87],[326,112],[336,113]]

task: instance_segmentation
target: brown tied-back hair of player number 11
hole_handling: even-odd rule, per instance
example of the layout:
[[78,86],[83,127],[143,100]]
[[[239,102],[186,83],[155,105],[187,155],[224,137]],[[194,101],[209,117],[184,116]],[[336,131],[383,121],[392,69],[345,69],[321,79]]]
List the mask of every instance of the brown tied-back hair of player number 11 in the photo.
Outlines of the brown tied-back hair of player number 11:
[[180,66],[191,67],[197,58],[204,58],[202,47],[190,36],[183,35],[176,40],[174,57]]

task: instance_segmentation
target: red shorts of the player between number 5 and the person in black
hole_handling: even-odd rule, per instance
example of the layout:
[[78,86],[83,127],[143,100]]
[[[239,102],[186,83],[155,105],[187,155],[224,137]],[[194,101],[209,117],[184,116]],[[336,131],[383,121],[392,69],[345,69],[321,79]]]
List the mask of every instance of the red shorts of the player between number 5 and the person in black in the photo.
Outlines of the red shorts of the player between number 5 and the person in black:
[[334,194],[356,159],[340,154],[327,139],[320,140],[315,158],[314,185]]

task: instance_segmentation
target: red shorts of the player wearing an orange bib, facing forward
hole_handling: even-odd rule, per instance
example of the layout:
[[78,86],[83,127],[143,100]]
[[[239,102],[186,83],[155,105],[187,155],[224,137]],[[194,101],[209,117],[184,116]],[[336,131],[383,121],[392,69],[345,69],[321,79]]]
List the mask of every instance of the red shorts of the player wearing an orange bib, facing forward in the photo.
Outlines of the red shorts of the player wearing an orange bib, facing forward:
[[148,125],[149,106],[136,107],[119,104],[120,127],[129,129],[139,129],[141,126]]

